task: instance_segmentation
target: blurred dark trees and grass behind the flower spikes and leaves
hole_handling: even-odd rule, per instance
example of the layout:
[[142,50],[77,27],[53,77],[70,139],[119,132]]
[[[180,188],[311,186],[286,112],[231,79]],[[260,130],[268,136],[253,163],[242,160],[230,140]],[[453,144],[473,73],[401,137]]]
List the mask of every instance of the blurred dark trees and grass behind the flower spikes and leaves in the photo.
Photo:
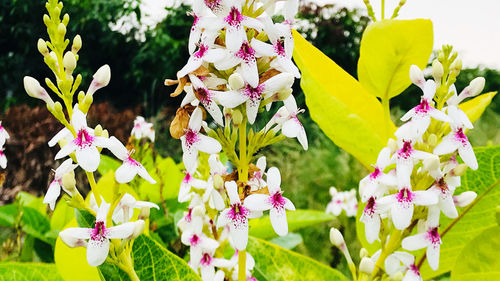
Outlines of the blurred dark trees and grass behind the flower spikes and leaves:
[[[48,186],[50,169],[55,167],[52,159],[56,151],[47,149],[46,142],[60,127],[43,107],[35,106],[39,105],[38,101],[25,94],[22,84],[24,75],[39,80],[49,76],[36,48],[38,38],[47,38],[42,23],[43,3],[0,0],[0,69],[3,70],[0,75],[0,119],[12,132],[12,140],[6,146],[8,180],[0,192],[0,205],[12,201],[20,190],[42,195]],[[83,75],[83,88],[101,65],[109,64],[112,69],[111,83],[95,95],[95,103],[99,105],[94,105],[94,110],[89,113],[90,125],[100,122],[111,134],[125,138],[135,115],[142,114],[155,123],[155,148],[163,156],[171,156],[179,162],[180,142],[170,137],[168,126],[182,97],[170,98],[169,93],[174,89],[165,87],[163,80],[174,78],[187,61],[187,38],[192,24],[187,14],[188,6],[178,4],[166,8],[167,16],[146,30],[132,26],[118,32],[113,30],[123,18],[134,19],[141,26],[144,15],[140,1],[66,0],[64,4],[63,12],[71,16],[67,33],[70,37],[80,34],[83,39],[77,68],[77,72]],[[299,12],[298,29],[356,77],[361,36],[369,23],[365,13],[332,5],[304,4]],[[476,76],[486,78],[484,92],[500,89],[500,72],[481,67],[463,70],[456,82],[457,89],[463,89]],[[307,109],[298,84],[295,85],[298,105]],[[419,89],[411,86],[395,98],[392,102],[393,120],[413,107],[420,95]],[[499,111],[497,97],[471,132],[473,145],[500,143]],[[262,151],[262,154],[267,156],[269,165],[280,168],[286,196],[297,208],[322,210],[331,199],[330,186],[335,185],[341,190],[357,188],[366,170],[321,132],[307,110],[301,119],[310,142],[308,151],[302,151],[295,140],[286,140]],[[326,243],[328,228],[338,227],[341,222],[346,240],[355,241],[354,218],[341,216],[328,225],[299,231],[303,243],[295,250],[340,267],[348,274],[336,249],[318,243]],[[352,243],[349,247],[356,259],[354,253],[359,251],[359,245]]]

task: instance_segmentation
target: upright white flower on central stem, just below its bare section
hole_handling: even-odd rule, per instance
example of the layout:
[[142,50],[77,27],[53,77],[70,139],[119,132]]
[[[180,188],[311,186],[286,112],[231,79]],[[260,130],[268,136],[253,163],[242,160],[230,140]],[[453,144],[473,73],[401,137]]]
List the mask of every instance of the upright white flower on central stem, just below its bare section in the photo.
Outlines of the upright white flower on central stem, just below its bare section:
[[217,227],[229,225],[229,236],[237,250],[245,250],[248,243],[248,218],[250,210],[241,204],[236,182],[226,182],[226,191],[231,206],[224,209],[217,220]]

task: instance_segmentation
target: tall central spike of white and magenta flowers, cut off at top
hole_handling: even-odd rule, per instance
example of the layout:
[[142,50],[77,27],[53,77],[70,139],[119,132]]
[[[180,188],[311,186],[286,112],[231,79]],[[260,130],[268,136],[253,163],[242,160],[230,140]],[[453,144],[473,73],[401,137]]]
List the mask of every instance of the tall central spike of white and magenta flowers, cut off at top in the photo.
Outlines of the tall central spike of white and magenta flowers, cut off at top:
[[[282,196],[279,170],[266,170],[265,157],[252,164],[262,147],[285,137],[308,148],[297,118],[303,110],[291,95],[300,77],[291,60],[298,1],[284,3],[282,22],[273,22],[275,2],[194,1],[190,58],[177,80],[165,81],[178,84],[172,96],[186,93],[170,132],[181,139],[186,168],[178,199],[190,201],[179,222],[182,242],[203,280],[252,280],[254,262],[245,251],[249,220],[269,211],[276,233],[286,235],[285,210],[295,209]],[[259,112],[279,101],[283,105],[262,122]],[[213,123],[203,121],[207,115]],[[221,255],[226,241],[235,251],[231,259]]]

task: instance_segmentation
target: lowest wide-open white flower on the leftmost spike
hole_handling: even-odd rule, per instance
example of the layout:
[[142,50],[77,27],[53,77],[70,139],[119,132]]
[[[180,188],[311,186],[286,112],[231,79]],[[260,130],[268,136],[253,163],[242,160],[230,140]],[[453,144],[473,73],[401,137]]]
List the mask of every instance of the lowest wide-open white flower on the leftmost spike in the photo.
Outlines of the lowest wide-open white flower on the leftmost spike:
[[94,228],[72,227],[59,233],[62,241],[70,247],[84,246],[87,243],[87,262],[99,266],[106,260],[109,252],[109,239],[127,239],[134,233],[136,222],[127,222],[106,227],[106,215],[111,204],[102,201],[97,211]]

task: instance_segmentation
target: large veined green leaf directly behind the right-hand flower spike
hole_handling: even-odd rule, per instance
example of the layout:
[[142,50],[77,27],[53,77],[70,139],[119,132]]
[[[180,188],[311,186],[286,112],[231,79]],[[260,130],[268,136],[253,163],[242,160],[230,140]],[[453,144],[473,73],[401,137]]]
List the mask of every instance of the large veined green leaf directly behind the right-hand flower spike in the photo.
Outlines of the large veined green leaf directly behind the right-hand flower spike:
[[433,271],[427,262],[420,270],[424,279],[441,275],[459,266],[458,259],[464,247],[484,230],[496,226],[495,210],[500,202],[500,146],[474,148],[479,163],[476,171],[468,170],[462,177],[462,185],[455,194],[474,191],[476,200],[459,210],[455,220],[441,216],[441,231],[449,227],[442,237],[439,269]]

